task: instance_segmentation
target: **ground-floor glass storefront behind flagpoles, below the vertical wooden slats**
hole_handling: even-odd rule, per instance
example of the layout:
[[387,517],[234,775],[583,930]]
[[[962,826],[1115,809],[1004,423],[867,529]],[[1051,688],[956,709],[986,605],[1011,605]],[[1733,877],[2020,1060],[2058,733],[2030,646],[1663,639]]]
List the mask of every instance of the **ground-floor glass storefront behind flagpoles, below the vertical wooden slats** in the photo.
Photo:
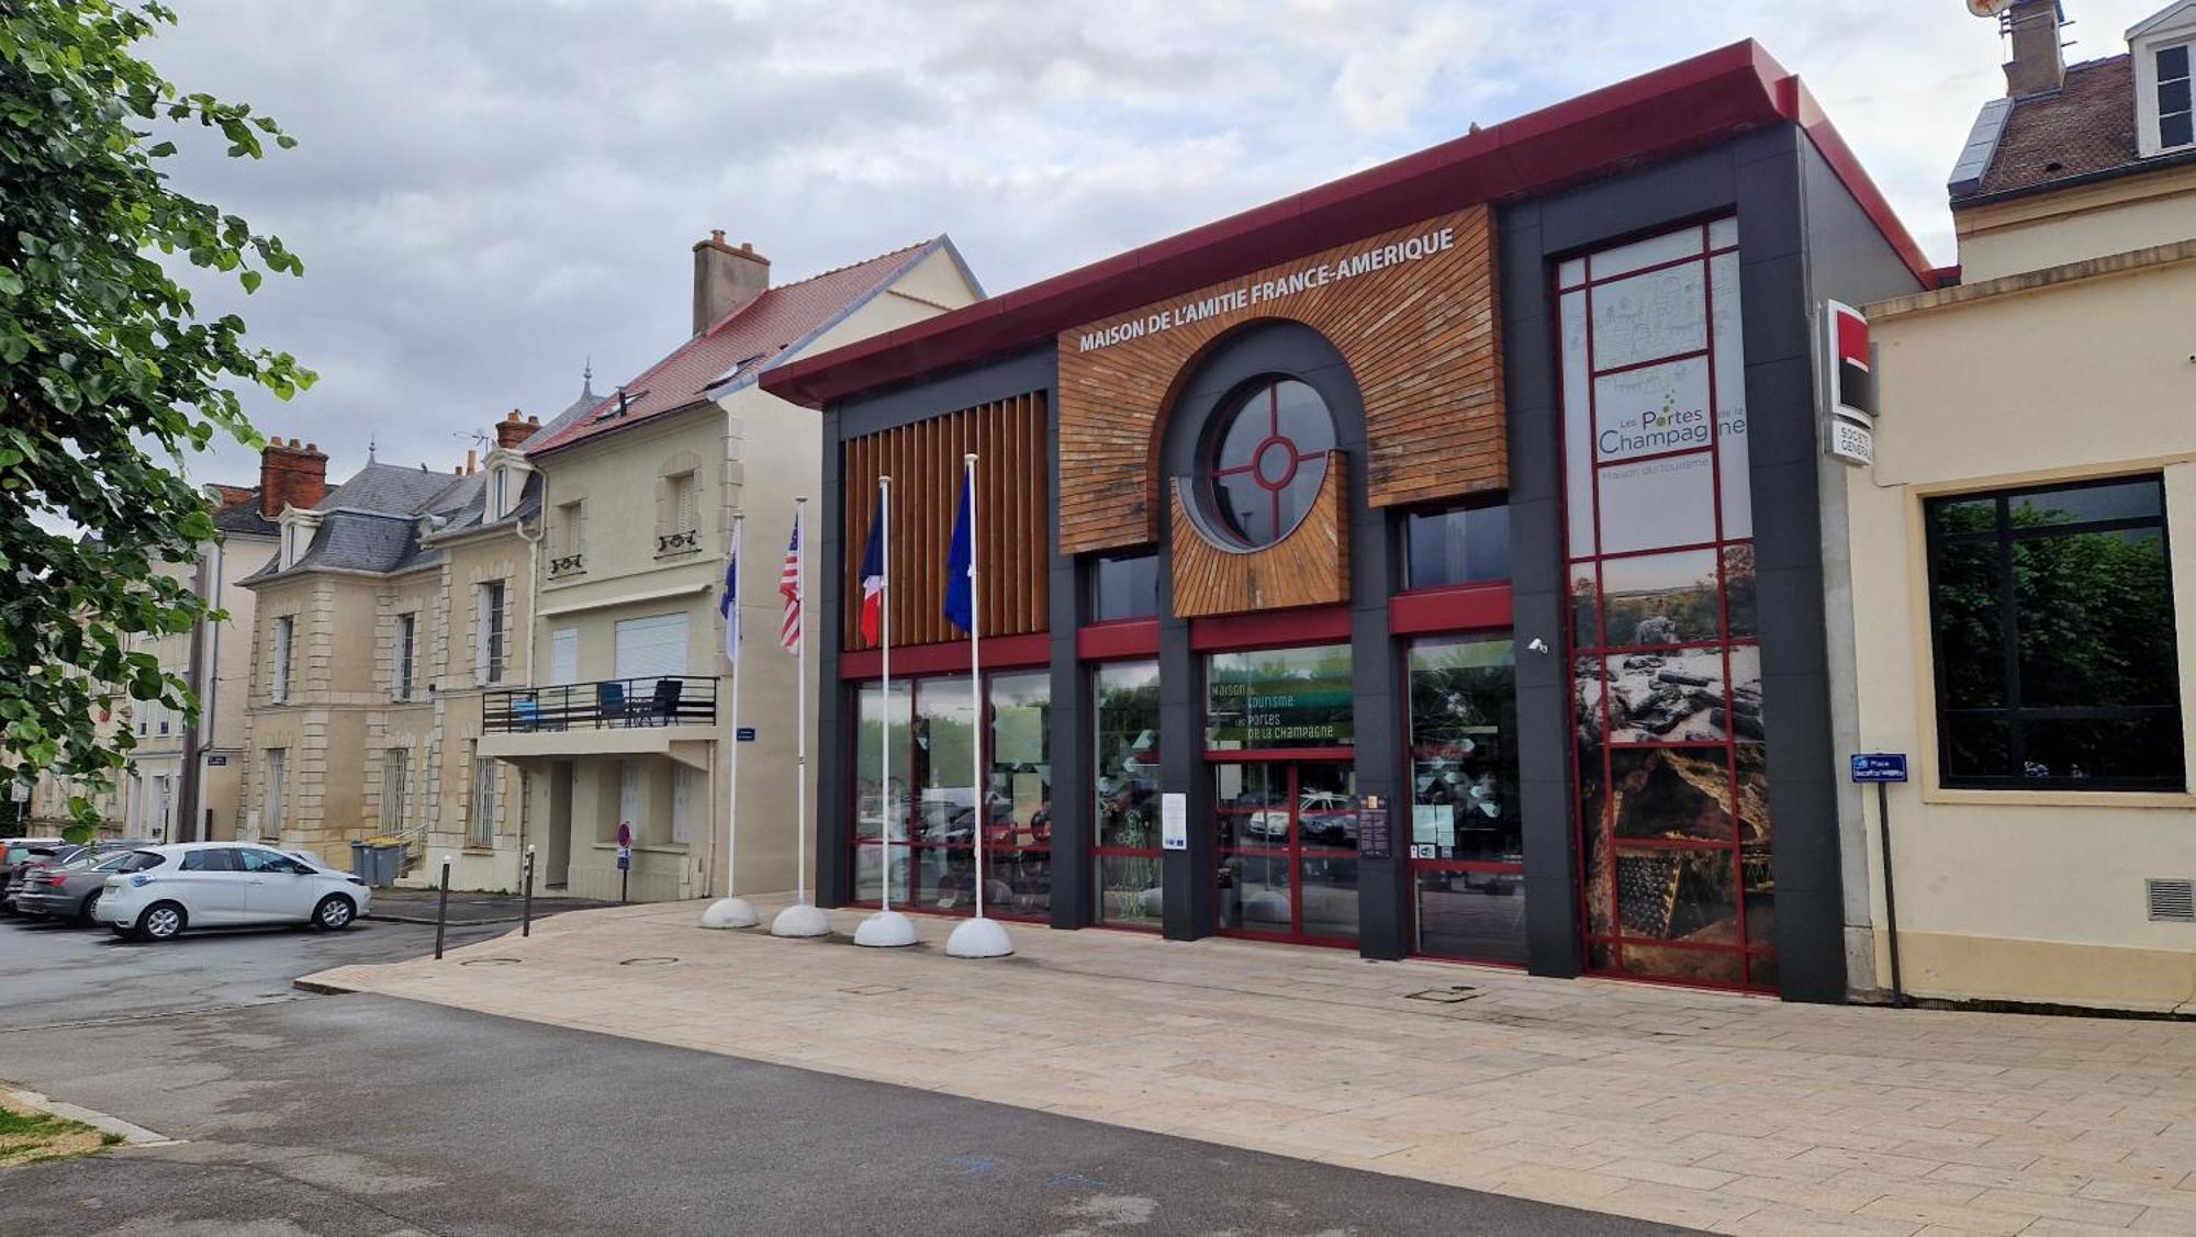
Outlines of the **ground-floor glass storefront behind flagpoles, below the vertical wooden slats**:
[[[889,816],[892,901],[909,910],[975,910],[975,831],[984,820],[986,912],[1045,919],[1052,906],[1052,680],[1045,671],[986,676],[986,779],[975,779],[975,700],[968,676],[894,682],[856,693],[854,899],[883,895]],[[883,744],[892,785],[881,787]],[[889,803],[889,812],[887,805]]]

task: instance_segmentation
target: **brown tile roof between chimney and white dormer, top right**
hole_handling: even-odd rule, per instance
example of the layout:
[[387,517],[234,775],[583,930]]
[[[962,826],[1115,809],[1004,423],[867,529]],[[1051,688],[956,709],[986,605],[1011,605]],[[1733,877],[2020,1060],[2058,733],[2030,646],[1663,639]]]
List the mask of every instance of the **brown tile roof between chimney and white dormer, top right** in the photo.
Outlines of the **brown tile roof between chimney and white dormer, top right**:
[[2036,189],[2141,162],[2135,147],[2135,61],[2126,55],[2066,66],[2053,94],[2014,101],[1976,197]]

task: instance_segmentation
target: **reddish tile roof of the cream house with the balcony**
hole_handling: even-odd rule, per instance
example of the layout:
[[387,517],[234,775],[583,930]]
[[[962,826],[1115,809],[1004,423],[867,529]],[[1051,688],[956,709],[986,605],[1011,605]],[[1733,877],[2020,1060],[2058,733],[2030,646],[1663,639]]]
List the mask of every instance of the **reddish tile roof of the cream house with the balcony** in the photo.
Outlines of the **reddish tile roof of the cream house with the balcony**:
[[782,353],[819,336],[940,246],[944,246],[944,237],[933,237],[766,290],[628,382],[624,386],[624,415],[615,412],[617,395],[606,395],[602,404],[580,417],[534,434],[527,441],[527,456],[558,452],[676,412],[705,399],[712,388],[729,386],[736,377],[751,377],[773,366]]

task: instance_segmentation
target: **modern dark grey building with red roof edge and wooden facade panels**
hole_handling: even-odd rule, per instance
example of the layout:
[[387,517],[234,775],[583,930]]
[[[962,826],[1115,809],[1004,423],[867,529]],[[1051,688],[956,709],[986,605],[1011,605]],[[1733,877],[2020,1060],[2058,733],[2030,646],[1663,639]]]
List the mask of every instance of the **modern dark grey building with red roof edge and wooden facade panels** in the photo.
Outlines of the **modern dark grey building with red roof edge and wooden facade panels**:
[[824,901],[962,915],[982,836],[1056,928],[1845,1000],[1814,322],[1928,283],[1748,42],[766,373]]

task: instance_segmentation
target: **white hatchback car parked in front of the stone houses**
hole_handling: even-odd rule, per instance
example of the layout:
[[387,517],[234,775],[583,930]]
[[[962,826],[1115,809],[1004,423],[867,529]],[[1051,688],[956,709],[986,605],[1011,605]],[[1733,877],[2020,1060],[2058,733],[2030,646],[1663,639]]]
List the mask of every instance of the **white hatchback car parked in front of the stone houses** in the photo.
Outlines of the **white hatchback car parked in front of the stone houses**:
[[349,928],[367,912],[367,882],[255,842],[180,842],[130,851],[99,893],[94,921],[123,937],[167,941],[187,928],[312,923]]

